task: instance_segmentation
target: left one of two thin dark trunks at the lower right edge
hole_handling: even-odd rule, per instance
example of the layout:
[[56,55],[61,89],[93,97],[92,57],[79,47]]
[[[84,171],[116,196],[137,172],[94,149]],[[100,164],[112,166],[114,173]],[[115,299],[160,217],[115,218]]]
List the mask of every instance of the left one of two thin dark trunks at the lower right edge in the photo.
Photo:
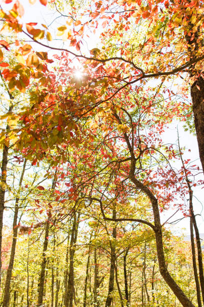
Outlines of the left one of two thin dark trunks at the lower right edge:
[[193,224],[192,224],[192,218],[191,217],[190,217],[190,241],[191,241],[191,252],[192,252],[192,266],[193,266],[195,286],[196,286],[196,295],[197,295],[197,305],[198,305],[198,307],[202,307],[201,298],[200,298],[199,279],[198,279],[198,275],[197,275],[196,257],[195,257]]

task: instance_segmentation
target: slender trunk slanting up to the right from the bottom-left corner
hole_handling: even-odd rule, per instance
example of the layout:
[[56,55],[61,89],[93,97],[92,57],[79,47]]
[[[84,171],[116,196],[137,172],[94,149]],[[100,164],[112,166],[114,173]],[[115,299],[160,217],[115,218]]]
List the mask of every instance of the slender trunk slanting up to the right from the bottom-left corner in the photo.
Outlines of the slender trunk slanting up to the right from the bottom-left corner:
[[26,166],[26,160],[24,160],[24,164],[22,167],[22,173],[20,176],[19,188],[17,192],[18,195],[15,199],[15,209],[14,209],[14,216],[13,216],[13,237],[12,237],[12,245],[11,245],[11,251],[10,251],[10,259],[9,259],[9,264],[8,264],[8,268],[6,272],[2,307],[7,307],[9,305],[10,279],[12,275],[12,268],[13,268],[13,262],[14,262],[14,256],[15,256],[15,246],[16,246],[16,240],[17,240],[17,216],[18,216],[19,193],[20,193],[20,188],[22,185],[22,180],[23,180],[23,176],[25,172],[25,166]]

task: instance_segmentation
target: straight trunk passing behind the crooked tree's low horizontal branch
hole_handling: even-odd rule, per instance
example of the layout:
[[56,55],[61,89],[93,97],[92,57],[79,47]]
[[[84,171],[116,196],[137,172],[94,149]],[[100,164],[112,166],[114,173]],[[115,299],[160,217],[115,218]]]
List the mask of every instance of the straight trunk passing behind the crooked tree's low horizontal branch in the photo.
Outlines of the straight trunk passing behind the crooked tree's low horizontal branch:
[[[112,219],[116,218],[116,211],[115,209],[112,210]],[[112,237],[114,240],[116,239],[116,226],[114,226],[112,230]],[[112,302],[112,291],[114,290],[114,261],[115,261],[115,247],[114,247],[114,242],[113,246],[112,243],[110,242],[110,248],[111,248],[111,255],[110,255],[110,272],[109,272],[109,283],[108,283],[108,293],[107,293],[107,298],[105,301],[105,307],[109,307]]]

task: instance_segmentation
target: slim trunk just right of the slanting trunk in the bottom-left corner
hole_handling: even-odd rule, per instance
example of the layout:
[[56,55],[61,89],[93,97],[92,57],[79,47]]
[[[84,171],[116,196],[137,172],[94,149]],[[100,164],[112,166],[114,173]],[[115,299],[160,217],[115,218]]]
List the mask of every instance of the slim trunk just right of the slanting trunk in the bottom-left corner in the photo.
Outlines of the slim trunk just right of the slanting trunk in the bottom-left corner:
[[49,222],[46,222],[45,226],[45,235],[44,235],[44,244],[43,244],[43,252],[42,252],[42,262],[41,262],[41,271],[39,277],[39,286],[38,286],[38,299],[37,306],[42,305],[43,301],[43,292],[44,292],[44,278],[45,278],[45,268],[46,268],[46,250],[48,245],[48,235],[49,235]]

